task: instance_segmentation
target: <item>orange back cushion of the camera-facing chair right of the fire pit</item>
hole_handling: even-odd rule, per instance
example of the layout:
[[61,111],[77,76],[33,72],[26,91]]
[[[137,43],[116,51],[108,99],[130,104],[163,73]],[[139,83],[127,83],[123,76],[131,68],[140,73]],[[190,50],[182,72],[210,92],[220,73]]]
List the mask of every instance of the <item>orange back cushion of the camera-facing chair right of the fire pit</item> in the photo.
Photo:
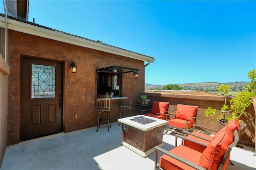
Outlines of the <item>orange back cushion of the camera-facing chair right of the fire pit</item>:
[[[186,120],[187,118],[194,117],[196,115],[196,111],[197,106],[177,104],[175,117],[178,119]],[[189,121],[195,123],[194,119],[190,119]]]

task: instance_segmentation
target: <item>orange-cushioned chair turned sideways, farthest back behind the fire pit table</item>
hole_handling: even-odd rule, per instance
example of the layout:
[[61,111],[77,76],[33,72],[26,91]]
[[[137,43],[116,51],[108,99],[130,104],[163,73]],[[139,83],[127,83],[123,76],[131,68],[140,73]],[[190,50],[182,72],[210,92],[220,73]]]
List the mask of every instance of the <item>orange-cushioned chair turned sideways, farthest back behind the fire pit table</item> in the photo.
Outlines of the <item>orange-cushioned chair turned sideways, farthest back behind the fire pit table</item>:
[[[165,120],[165,115],[168,113],[169,102],[156,102],[153,101],[152,109],[142,110],[142,114],[150,117]],[[146,113],[150,111],[150,113]]]

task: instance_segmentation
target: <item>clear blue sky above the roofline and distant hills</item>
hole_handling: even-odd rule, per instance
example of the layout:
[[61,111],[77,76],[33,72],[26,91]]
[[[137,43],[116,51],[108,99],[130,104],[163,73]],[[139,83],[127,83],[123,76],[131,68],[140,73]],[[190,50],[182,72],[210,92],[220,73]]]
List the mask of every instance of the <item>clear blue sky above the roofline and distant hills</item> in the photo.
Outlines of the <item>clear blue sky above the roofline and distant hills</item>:
[[249,81],[248,72],[256,69],[255,0],[30,0],[28,20],[33,18],[154,57],[146,66],[149,84]]

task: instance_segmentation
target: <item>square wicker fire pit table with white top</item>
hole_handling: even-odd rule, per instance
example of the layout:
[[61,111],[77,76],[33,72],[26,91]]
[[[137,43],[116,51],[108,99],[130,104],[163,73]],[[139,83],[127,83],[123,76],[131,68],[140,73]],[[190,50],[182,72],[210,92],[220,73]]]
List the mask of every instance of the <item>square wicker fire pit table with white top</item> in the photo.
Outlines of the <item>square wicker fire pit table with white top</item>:
[[163,147],[164,125],[166,120],[145,115],[136,115],[118,119],[122,123],[122,145],[142,157],[153,153],[154,147]]

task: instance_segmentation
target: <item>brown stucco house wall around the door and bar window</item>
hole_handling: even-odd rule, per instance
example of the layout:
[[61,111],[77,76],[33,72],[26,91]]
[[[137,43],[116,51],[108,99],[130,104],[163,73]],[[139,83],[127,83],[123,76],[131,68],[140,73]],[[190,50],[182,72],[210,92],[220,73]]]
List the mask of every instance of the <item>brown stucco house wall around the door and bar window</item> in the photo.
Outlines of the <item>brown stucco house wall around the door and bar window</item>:
[[[119,105],[144,92],[144,61],[114,55],[94,49],[62,43],[26,33],[9,31],[9,117],[8,142],[13,145],[20,142],[20,55],[42,57],[64,61],[64,131],[76,131],[97,126],[95,80],[96,68],[120,65],[138,68],[139,77],[127,73],[123,79],[123,96],[125,100],[111,101],[111,120],[117,121],[120,116]],[[70,64],[75,61],[76,74],[72,74]],[[75,114],[78,119],[75,119]],[[96,129],[95,129],[96,131]],[[96,133],[96,132],[95,132]]]

